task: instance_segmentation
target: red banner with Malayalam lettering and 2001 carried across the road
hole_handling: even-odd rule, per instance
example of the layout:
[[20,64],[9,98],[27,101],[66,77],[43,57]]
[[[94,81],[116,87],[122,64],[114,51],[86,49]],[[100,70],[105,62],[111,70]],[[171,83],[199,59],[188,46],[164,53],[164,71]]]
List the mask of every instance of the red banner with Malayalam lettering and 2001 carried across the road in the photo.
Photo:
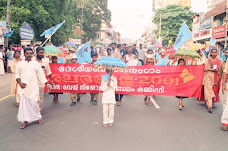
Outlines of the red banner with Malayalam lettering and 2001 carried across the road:
[[[101,92],[104,69],[83,64],[50,64],[54,87],[51,92]],[[201,94],[204,66],[136,66],[113,75],[118,80],[116,93],[198,97]]]

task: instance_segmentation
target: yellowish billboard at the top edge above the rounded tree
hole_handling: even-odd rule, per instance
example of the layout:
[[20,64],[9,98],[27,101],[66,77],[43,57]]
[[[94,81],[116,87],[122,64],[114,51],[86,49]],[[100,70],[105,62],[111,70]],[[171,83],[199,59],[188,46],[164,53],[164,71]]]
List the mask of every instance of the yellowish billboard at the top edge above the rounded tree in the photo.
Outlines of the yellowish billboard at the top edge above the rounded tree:
[[191,0],[153,0],[153,11],[165,8],[167,5],[182,5],[191,7]]

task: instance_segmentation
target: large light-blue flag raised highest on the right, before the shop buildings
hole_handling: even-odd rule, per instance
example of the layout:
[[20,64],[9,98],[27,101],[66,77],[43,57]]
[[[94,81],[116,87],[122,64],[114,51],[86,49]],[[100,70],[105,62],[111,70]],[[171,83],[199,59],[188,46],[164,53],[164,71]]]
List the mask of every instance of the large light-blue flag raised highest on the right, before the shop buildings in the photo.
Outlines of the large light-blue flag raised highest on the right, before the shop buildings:
[[192,37],[192,34],[188,26],[186,25],[186,23],[183,23],[175,41],[174,50],[177,51],[178,48],[181,45],[183,45],[186,41],[188,41],[188,39],[190,39],[191,37]]

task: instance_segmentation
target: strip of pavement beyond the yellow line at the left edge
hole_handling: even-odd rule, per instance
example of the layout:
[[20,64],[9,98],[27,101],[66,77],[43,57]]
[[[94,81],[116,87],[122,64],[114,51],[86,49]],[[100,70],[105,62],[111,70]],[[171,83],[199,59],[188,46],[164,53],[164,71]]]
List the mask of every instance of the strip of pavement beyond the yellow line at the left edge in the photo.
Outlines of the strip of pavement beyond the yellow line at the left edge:
[[12,73],[0,76],[0,99],[10,94]]

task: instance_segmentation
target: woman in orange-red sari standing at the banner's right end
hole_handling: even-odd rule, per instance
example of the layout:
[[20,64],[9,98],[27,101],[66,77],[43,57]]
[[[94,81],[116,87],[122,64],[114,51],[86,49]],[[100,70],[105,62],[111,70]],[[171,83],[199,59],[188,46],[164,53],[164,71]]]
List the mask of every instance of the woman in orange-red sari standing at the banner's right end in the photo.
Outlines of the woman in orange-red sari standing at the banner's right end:
[[217,49],[212,49],[210,58],[205,63],[204,73],[204,100],[206,101],[207,109],[209,113],[212,113],[214,103],[219,102],[219,87],[218,80],[218,68],[221,61],[217,58]]

